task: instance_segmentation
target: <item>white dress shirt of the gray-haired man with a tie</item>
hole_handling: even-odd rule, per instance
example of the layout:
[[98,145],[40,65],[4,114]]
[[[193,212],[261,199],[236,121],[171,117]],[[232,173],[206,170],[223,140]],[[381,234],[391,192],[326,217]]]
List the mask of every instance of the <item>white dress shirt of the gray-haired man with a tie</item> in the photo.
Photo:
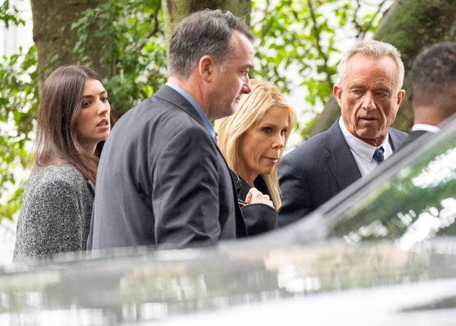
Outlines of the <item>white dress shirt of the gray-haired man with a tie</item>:
[[366,142],[363,142],[358,137],[351,135],[351,133],[347,130],[345,123],[341,119],[339,119],[339,127],[341,127],[343,137],[350,147],[351,154],[355,159],[356,164],[358,165],[358,169],[361,172],[361,176],[366,177],[375,167],[378,166],[378,163],[373,159],[373,153],[375,149],[378,147],[383,147],[383,157],[388,159],[393,154],[393,149],[390,146],[390,142],[388,142],[389,134],[386,135],[385,140],[382,144],[378,147],[374,147]]

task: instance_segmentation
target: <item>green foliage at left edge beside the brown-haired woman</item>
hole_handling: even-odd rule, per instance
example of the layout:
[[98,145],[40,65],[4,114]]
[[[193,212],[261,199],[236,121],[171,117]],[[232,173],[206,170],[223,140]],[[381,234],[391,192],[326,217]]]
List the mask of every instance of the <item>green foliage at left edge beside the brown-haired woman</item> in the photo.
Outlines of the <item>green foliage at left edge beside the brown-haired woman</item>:
[[0,61],[0,219],[12,219],[20,207],[24,184],[14,172],[31,166],[26,145],[38,111],[36,77],[34,47]]

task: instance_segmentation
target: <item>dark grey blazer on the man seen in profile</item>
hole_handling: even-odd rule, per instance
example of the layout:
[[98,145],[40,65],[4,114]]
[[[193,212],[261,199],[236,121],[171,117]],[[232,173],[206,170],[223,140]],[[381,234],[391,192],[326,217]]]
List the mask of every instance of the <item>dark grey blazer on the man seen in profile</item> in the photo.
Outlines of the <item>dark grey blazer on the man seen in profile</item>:
[[98,166],[88,248],[247,236],[234,182],[195,108],[168,86],[116,123]]

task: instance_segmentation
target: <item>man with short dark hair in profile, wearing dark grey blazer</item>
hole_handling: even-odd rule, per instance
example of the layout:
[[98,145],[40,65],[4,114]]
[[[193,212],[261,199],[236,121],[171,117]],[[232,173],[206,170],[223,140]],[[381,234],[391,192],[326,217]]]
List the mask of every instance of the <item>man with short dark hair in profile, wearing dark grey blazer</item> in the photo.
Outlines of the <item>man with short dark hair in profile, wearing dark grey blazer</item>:
[[252,34],[227,12],[183,19],[170,78],[115,125],[98,167],[88,248],[175,248],[246,236],[211,121],[250,93]]

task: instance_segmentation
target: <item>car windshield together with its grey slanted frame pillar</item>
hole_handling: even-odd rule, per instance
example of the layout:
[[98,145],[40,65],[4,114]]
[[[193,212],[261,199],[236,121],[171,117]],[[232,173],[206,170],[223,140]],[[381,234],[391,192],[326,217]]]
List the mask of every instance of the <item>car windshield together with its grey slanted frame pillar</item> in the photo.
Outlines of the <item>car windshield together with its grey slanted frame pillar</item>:
[[401,149],[309,216],[259,241],[394,239],[408,249],[436,235],[455,235],[455,218],[456,119],[452,119],[437,135]]

